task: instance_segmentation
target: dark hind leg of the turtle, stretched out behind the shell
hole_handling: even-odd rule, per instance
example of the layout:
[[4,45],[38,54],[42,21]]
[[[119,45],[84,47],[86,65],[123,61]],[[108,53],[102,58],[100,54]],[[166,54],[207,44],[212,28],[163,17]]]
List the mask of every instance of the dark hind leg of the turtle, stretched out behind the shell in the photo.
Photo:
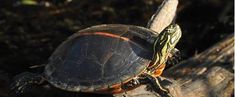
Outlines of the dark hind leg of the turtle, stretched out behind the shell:
[[41,75],[24,72],[13,78],[10,85],[10,95],[22,95],[30,90],[33,85],[39,85],[44,81]]

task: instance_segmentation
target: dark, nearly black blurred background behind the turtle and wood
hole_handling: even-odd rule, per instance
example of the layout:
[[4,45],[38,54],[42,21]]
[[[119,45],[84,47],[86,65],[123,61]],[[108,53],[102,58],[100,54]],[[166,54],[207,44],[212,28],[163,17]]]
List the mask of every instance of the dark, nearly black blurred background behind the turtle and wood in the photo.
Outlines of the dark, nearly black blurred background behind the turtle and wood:
[[[162,0],[1,0],[0,87],[12,76],[37,70],[55,48],[83,28],[107,23],[146,26]],[[177,45],[183,59],[234,33],[233,0],[179,0]],[[7,77],[7,78],[6,78]],[[5,91],[1,90],[0,91]],[[0,92],[1,93],[1,92]]]

